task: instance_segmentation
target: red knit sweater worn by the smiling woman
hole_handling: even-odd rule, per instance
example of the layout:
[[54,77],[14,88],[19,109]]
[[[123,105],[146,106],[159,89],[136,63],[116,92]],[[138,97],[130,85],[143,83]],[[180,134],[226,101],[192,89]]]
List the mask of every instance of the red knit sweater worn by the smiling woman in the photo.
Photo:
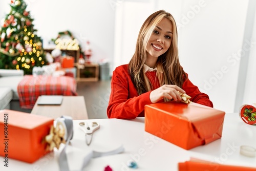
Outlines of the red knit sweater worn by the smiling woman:
[[[153,85],[153,89],[160,87],[156,78],[156,72],[147,71],[146,76]],[[182,86],[191,101],[213,107],[208,95],[201,93],[197,86],[187,78]],[[113,71],[111,80],[111,94],[107,114],[109,118],[134,119],[144,116],[144,106],[151,104],[150,93],[146,92],[138,96],[129,74],[128,65],[119,66]],[[160,100],[159,102],[163,102]]]

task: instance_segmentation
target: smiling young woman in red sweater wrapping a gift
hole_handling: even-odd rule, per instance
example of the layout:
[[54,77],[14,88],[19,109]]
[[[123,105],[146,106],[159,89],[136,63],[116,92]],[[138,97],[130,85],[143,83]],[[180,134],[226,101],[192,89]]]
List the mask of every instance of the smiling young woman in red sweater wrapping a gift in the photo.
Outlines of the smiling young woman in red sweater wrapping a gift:
[[160,10],[142,25],[129,64],[113,71],[107,114],[119,119],[141,117],[146,104],[180,101],[179,92],[189,95],[190,101],[213,107],[208,95],[190,82],[181,67],[175,20]]

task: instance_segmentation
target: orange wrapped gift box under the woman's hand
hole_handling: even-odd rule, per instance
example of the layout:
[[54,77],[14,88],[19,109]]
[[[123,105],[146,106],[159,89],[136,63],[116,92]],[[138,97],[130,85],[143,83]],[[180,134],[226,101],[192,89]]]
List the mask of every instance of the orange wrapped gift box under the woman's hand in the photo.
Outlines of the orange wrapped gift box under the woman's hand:
[[145,131],[191,149],[221,138],[224,115],[223,111],[193,102],[148,104],[145,105]]

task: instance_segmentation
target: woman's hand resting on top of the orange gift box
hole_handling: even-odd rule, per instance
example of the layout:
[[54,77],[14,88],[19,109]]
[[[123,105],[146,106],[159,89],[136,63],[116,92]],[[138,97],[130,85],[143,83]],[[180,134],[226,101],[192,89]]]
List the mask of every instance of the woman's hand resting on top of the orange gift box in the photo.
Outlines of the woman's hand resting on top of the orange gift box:
[[180,87],[178,87],[176,85],[165,84],[165,85],[161,86],[160,88],[153,90],[150,93],[150,100],[152,103],[156,103],[163,98],[168,98],[170,100],[173,99],[174,101],[180,101],[181,96],[178,91],[180,93],[185,93],[185,91],[183,89],[181,89]]

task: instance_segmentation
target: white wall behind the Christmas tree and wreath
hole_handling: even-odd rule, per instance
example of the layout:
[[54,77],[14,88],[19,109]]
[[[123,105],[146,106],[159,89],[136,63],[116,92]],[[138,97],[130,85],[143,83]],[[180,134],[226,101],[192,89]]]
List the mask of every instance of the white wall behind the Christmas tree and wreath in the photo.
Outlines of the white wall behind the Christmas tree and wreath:
[[[106,0],[25,0],[30,11],[37,35],[44,39],[44,46],[58,32],[70,30],[84,48],[91,42],[92,60],[113,60],[115,9]],[[10,1],[1,0],[0,18],[10,12]]]

